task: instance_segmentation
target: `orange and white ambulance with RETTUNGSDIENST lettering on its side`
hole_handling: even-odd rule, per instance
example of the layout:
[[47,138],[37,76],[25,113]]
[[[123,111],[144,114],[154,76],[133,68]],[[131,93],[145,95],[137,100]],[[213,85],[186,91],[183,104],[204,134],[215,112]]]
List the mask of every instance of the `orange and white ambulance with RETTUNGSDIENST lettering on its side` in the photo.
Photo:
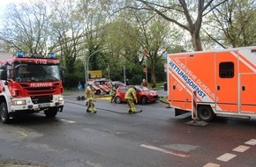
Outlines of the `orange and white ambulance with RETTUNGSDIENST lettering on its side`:
[[204,121],[256,116],[256,47],[169,54],[167,65],[176,116],[193,108]]

